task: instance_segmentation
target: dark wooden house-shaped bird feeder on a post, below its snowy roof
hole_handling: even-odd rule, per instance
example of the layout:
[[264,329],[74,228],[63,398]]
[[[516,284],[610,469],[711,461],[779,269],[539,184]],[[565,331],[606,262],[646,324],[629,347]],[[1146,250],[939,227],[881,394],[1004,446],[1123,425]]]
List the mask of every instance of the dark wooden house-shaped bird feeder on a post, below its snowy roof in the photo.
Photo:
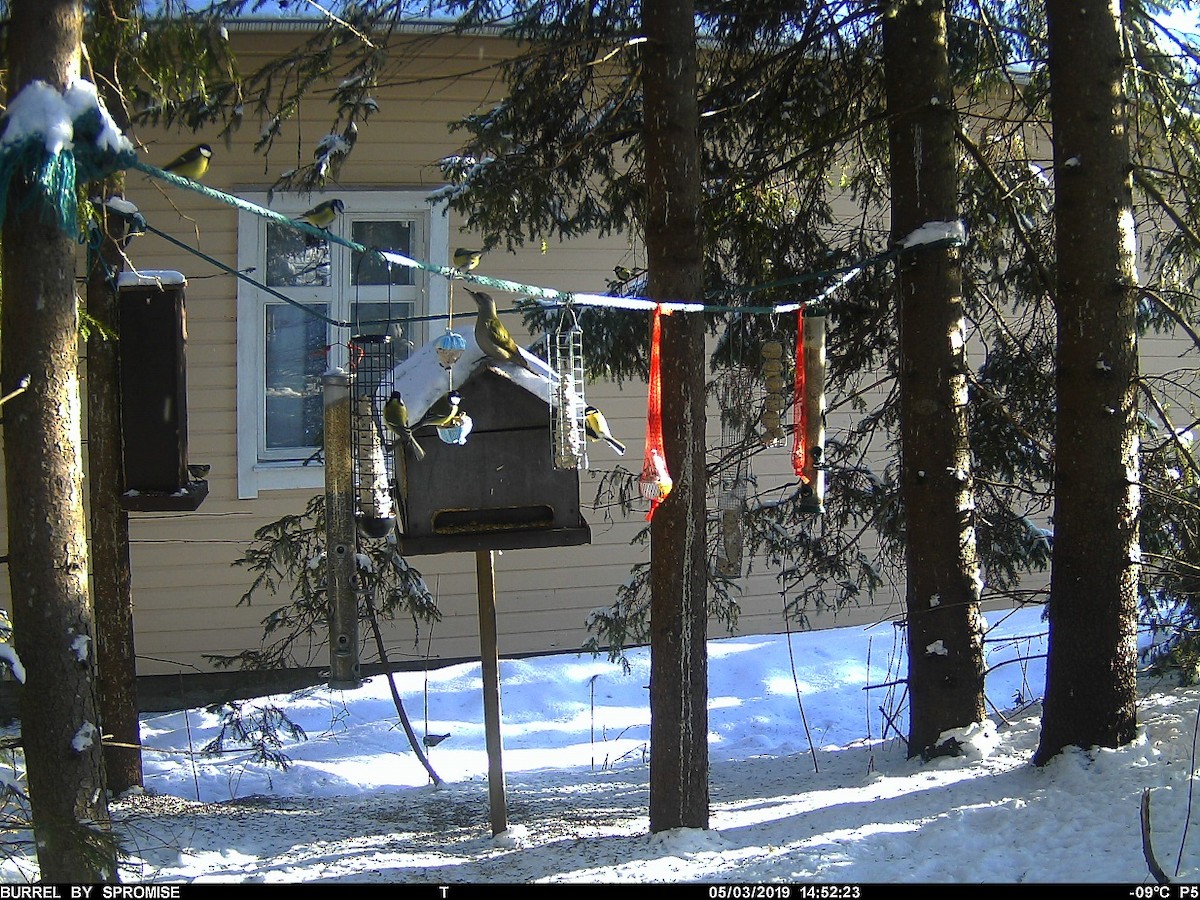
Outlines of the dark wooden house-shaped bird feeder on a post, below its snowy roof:
[[491,370],[476,370],[458,392],[470,416],[464,444],[422,427],[418,462],[397,467],[403,498],[400,550],[406,556],[588,544],[580,476],[556,469],[545,400]]

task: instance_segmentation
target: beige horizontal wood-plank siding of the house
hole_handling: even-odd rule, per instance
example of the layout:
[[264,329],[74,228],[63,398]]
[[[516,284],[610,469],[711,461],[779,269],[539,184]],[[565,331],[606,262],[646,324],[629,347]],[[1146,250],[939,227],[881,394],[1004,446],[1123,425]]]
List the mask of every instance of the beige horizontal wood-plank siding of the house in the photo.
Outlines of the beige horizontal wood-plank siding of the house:
[[[281,32],[234,32],[242,71],[253,70],[294,40]],[[416,40],[416,38],[414,38]],[[336,191],[355,188],[440,185],[436,161],[457,149],[457,137],[446,124],[486,108],[502,85],[490,67],[506,49],[491,37],[422,40],[419,65],[380,89],[379,113],[362,127],[358,145],[344,164]],[[457,77],[446,77],[457,76]],[[314,139],[332,119],[319,95],[304,104],[299,122],[284,126],[276,149],[265,161],[252,151],[258,124],[247,118],[241,132],[226,145],[215,134],[139,130],[145,158],[163,163],[206,139],[215,158],[205,184],[233,194],[262,192],[275,173],[294,164],[296,154],[310,152]],[[298,137],[304,140],[299,144]],[[127,197],[148,221],[206,254],[234,264],[238,258],[238,214],[234,209],[186,190],[131,173]],[[450,246],[472,245],[474,235],[450,222]],[[136,239],[130,259],[138,269],[175,269],[187,284],[187,379],[190,457],[209,463],[210,494],[194,512],[132,514],[132,566],[136,605],[136,641],[139,673],[170,676],[212,671],[206,654],[232,655],[258,646],[260,620],[276,605],[266,595],[252,606],[239,605],[250,578],[233,565],[248,546],[254,530],[284,515],[300,512],[319,490],[260,491],[239,499],[238,490],[238,370],[236,295],[233,276],[203,259],[191,257],[154,235]],[[637,265],[636,248],[620,236],[570,244],[551,242],[546,252],[530,247],[516,253],[496,251],[480,269],[491,276],[568,290],[600,292],[613,266]],[[512,298],[498,298],[504,304]],[[510,323],[511,324],[511,323]],[[523,336],[517,335],[518,340]],[[128,352],[126,349],[125,352]],[[1154,338],[1144,344],[1147,371],[1177,364],[1177,343]],[[632,545],[644,527],[644,508],[632,515],[594,508],[596,487],[605,469],[623,464],[635,473],[642,458],[646,392],[643,384],[588,385],[588,398],[600,406],[613,432],[629,451],[617,460],[602,445],[590,449],[593,469],[581,476],[584,516],[592,544],[560,550],[506,551],[497,554],[499,647],[503,654],[577,649],[587,638],[587,614],[612,604],[630,569],[648,558],[646,545]],[[830,428],[838,422],[830,421]],[[710,418],[710,437],[719,424]],[[792,480],[788,450],[763,451],[754,462],[760,486]],[[0,530],[6,524],[0,520]],[[6,546],[6,535],[0,534]],[[473,554],[414,558],[443,613],[432,628],[416,632],[402,620],[386,635],[394,661],[413,665],[472,658],[479,652]],[[750,574],[740,580],[742,632],[776,632],[787,628],[775,572],[762,559],[750,560]],[[7,586],[2,588],[7,589]],[[282,601],[281,598],[278,601]],[[899,619],[902,583],[883,588],[872,606],[814,613],[812,626]],[[719,635],[718,629],[712,634]],[[890,630],[887,631],[890,636]],[[364,659],[373,659],[365,653]],[[314,649],[312,665],[328,662],[324,649]]]

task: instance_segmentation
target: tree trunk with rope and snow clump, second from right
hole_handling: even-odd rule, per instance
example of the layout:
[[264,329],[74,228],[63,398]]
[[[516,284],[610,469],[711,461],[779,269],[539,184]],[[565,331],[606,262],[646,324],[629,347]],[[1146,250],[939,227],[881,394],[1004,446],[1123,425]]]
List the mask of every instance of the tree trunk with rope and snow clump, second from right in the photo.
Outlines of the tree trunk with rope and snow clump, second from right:
[[[906,0],[883,19],[892,236],[958,220],[946,5]],[[907,540],[908,755],[982,721],[983,635],[967,445],[962,275],[956,247],[898,264],[900,460]]]

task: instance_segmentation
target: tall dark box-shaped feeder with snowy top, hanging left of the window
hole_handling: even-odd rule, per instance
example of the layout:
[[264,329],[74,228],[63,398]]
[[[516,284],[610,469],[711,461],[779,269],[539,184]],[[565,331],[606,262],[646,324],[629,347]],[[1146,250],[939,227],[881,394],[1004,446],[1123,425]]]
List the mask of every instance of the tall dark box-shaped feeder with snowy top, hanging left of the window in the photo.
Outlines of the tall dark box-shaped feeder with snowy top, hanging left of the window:
[[209,492],[187,466],[186,281],[140,272],[118,295],[127,510],[194,510]]

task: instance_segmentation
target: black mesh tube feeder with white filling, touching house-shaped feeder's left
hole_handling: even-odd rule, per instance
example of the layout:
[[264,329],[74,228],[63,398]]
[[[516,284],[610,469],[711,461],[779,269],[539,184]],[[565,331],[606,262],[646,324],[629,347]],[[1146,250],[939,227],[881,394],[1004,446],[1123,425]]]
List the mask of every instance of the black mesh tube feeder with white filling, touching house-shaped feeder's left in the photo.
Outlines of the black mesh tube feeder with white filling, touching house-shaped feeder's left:
[[354,520],[366,538],[383,538],[396,526],[395,456],[385,452],[378,409],[391,395],[395,348],[390,335],[350,338],[354,367],[352,446]]

